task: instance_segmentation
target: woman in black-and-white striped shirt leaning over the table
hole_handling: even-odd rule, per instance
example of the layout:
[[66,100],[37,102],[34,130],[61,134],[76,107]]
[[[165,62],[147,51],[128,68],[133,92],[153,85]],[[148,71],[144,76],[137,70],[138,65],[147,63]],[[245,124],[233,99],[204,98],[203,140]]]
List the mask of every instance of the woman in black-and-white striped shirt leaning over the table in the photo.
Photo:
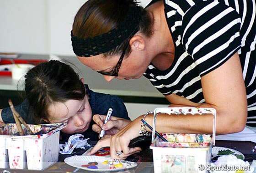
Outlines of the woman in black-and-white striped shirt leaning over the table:
[[[106,81],[144,75],[172,107],[215,108],[217,134],[244,130],[239,140],[252,140],[256,134],[245,125],[256,127],[255,4],[154,0],[143,9],[133,0],[88,0],[75,16],[72,46],[78,59]],[[142,117],[96,148],[110,145],[112,158],[122,159],[139,152],[128,143],[140,135]],[[153,115],[145,120],[152,126]],[[95,121],[98,131],[103,122]],[[212,117],[163,114],[156,130],[212,133]]]

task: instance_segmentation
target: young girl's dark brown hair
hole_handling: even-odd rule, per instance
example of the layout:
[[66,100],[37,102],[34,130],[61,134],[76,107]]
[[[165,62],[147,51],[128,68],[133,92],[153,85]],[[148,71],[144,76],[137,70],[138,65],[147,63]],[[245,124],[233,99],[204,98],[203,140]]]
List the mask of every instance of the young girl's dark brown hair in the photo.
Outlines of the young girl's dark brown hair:
[[37,123],[48,120],[48,107],[69,99],[83,100],[85,86],[74,69],[57,60],[43,62],[25,75],[25,92]]

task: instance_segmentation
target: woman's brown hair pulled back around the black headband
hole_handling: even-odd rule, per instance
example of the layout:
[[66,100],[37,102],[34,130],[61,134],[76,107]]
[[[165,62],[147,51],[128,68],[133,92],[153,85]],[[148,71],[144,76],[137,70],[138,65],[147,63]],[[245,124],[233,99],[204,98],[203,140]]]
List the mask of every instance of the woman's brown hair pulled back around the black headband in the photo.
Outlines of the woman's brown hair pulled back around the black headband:
[[[101,36],[121,25],[127,14],[130,14],[128,10],[132,7],[138,8],[138,2],[134,0],[88,0],[75,15],[72,34],[76,38],[83,39]],[[131,15],[134,16],[131,17],[139,19],[139,31],[149,37],[153,33],[153,20],[147,10],[141,6],[139,9],[140,16],[132,13]],[[121,54],[129,39],[130,37],[127,37],[114,49],[104,53],[104,56]],[[126,53],[130,49],[128,46]]]

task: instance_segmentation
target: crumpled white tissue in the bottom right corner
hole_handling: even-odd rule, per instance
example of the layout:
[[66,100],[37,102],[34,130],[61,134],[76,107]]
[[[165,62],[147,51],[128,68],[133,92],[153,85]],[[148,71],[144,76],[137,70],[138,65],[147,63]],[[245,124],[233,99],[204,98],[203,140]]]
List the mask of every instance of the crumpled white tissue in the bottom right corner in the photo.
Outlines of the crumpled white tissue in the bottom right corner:
[[243,161],[233,154],[219,157],[215,163],[211,163],[211,168],[211,173],[254,173],[254,167],[250,166],[248,161]]

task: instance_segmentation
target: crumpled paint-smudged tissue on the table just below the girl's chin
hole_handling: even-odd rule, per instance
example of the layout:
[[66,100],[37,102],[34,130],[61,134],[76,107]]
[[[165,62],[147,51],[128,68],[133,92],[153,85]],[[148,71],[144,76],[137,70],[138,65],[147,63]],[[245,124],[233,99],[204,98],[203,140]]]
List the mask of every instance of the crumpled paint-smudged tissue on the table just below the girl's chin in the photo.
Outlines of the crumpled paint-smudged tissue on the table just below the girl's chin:
[[59,144],[59,153],[71,154],[75,148],[84,148],[88,144],[88,139],[83,139],[84,135],[75,134],[69,137],[68,142],[65,144]]

